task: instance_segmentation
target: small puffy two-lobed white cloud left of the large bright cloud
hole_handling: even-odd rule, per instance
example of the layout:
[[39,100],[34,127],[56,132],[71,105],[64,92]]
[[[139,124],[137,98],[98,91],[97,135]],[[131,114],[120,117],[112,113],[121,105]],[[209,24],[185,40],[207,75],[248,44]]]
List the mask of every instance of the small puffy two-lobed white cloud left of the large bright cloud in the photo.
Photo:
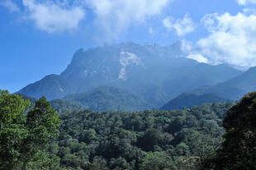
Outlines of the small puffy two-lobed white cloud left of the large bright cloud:
[[174,21],[173,17],[169,16],[163,20],[163,24],[168,30],[176,30],[179,36],[191,33],[196,29],[196,25],[188,15],[177,21]]

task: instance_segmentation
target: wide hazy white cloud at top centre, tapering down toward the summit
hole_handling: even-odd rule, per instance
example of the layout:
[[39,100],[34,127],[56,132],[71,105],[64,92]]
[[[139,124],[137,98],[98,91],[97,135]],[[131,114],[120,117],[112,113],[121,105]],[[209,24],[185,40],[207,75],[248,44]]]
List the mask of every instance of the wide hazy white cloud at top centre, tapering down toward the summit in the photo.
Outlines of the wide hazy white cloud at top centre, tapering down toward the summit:
[[84,0],[109,38],[117,38],[134,23],[162,13],[172,0]]

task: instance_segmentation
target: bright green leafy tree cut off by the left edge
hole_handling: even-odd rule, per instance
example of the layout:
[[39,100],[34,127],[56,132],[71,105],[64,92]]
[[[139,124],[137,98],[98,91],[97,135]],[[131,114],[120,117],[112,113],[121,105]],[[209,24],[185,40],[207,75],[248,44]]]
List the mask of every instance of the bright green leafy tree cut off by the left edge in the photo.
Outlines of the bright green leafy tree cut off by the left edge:
[[0,169],[14,169],[25,154],[22,147],[28,131],[24,112],[29,107],[28,100],[0,91]]

